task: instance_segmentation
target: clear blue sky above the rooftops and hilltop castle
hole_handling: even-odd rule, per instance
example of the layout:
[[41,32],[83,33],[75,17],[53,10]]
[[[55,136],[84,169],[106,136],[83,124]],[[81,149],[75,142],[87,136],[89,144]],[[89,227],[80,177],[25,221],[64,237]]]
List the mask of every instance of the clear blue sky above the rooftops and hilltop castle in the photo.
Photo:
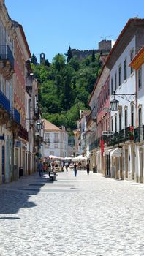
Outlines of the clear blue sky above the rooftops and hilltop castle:
[[143,0],[5,0],[10,18],[22,26],[31,54],[52,61],[67,53],[97,49],[102,37],[117,39],[129,18],[144,18]]

